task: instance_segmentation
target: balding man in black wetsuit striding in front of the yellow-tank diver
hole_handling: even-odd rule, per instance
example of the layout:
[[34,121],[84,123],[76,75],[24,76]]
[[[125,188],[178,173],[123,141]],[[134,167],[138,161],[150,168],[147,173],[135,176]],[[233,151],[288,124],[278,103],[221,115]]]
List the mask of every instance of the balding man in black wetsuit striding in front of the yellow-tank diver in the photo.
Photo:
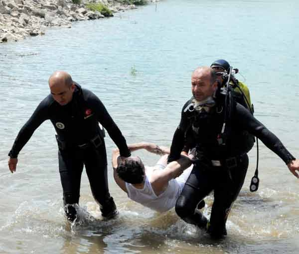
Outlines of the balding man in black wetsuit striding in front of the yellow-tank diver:
[[[276,153],[299,178],[299,160],[296,160],[281,141],[261,122],[254,118],[248,109],[232,101],[230,119],[225,119],[224,95],[217,90],[217,76],[209,67],[197,68],[191,77],[193,98],[188,100],[181,112],[168,162],[177,160],[185,143],[196,147],[196,161],[181,195],[176,201],[176,213],[187,223],[207,228],[208,233],[219,238],[226,235],[226,220],[233,202],[244,183],[248,168],[247,135],[259,138]],[[225,144],[225,145],[224,145]],[[210,222],[195,208],[204,197],[214,191]]]

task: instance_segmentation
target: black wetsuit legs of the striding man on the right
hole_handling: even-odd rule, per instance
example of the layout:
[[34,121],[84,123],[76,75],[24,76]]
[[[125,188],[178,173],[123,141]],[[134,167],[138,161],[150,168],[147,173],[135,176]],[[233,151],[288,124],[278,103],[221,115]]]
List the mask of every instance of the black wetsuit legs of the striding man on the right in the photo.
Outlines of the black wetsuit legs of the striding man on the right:
[[187,223],[202,227],[203,216],[200,213],[194,213],[194,210],[204,197],[214,191],[208,232],[215,238],[226,235],[226,220],[243,186],[247,168],[247,155],[239,157],[237,167],[231,169],[207,167],[207,164],[198,162],[193,167],[176,201],[176,213]]

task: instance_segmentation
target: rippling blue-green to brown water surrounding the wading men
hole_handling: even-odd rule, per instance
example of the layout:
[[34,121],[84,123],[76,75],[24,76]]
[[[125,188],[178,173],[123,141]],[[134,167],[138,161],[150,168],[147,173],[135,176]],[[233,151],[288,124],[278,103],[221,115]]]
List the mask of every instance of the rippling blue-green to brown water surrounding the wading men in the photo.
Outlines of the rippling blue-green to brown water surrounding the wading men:
[[[120,215],[102,221],[83,173],[81,224],[70,225],[54,129],[43,123],[19,155],[7,153],[21,126],[49,90],[55,70],[69,72],[106,105],[128,143],[169,146],[190,75],[224,58],[240,70],[255,116],[299,155],[299,2],[297,0],[163,0],[114,18],[52,28],[44,36],[0,45],[0,253],[298,253],[299,181],[260,142],[260,188],[249,191],[256,167],[250,156],[245,184],[228,218],[228,237],[211,240],[174,210],[155,213],[109,186]],[[108,161],[115,146],[106,138]],[[137,152],[145,164],[158,156]],[[212,197],[204,213],[209,216]]]

